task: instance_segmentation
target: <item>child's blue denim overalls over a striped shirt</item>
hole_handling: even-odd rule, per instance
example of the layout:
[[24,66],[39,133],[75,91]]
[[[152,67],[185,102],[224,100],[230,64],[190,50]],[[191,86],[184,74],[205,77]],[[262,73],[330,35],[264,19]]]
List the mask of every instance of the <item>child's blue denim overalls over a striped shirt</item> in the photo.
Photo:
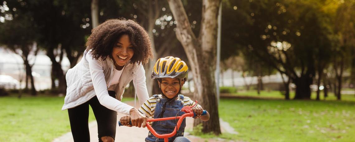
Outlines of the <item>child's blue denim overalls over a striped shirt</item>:
[[[168,101],[166,98],[158,98],[158,95],[153,96],[157,97],[157,105],[155,107],[154,118],[160,118],[160,113],[163,110],[163,105]],[[163,118],[175,117],[175,115],[184,107],[184,95],[180,95],[180,99],[173,100],[172,102],[166,103],[165,112],[163,114]],[[177,116],[181,116],[185,114],[185,112],[179,112]],[[164,121],[155,121],[152,124],[153,129],[158,134],[166,134],[174,131],[176,122],[178,119],[173,120],[164,120]],[[186,126],[186,120],[184,119],[180,125],[180,128],[175,136],[170,137],[169,142],[174,141],[176,137],[184,136],[184,130]],[[157,138],[151,132],[148,133],[148,137],[146,138],[146,142],[164,142],[164,138]]]

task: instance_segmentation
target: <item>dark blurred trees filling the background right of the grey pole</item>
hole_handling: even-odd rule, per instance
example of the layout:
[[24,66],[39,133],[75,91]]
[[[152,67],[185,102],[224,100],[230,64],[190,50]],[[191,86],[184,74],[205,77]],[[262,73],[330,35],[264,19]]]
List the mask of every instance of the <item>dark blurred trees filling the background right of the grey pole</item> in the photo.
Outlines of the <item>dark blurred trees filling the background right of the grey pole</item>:
[[222,58],[228,61],[236,55],[242,57],[242,61],[229,61],[227,66],[242,71],[243,75],[249,72],[261,76],[277,71],[287,76],[286,99],[291,82],[296,85],[295,99],[310,99],[313,83],[317,86],[322,83],[325,95],[331,87],[340,99],[344,71],[351,72],[350,83],[355,84],[354,3],[354,0],[224,1],[222,31],[228,32],[222,32]]

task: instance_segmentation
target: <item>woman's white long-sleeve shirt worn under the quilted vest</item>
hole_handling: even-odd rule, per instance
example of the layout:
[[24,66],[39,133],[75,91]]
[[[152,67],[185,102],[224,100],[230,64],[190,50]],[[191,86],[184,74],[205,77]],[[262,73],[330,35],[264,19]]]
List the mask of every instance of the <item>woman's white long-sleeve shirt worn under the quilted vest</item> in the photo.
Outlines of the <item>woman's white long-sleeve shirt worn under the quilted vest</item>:
[[[111,82],[107,83],[105,81],[105,76],[103,73],[102,61],[93,59],[90,52],[91,51],[88,51],[88,53],[86,54],[86,60],[89,62],[91,79],[93,82],[96,96],[97,96],[100,104],[102,104],[104,107],[114,110],[118,113],[130,115],[129,112],[134,107],[127,105],[125,103],[122,103],[113,97],[110,97],[108,94],[108,91],[107,91],[108,90],[107,84],[114,85],[114,84],[111,84],[111,82],[115,82],[115,81],[119,80],[120,76],[113,75],[113,78],[111,78]],[[122,69],[122,70],[124,70],[124,69]],[[140,104],[142,105],[149,98],[147,86],[146,86],[146,76],[145,76],[145,71],[144,71],[143,65],[138,65],[136,76],[133,77],[133,84],[134,84],[136,92],[137,92],[138,100],[139,100]]]

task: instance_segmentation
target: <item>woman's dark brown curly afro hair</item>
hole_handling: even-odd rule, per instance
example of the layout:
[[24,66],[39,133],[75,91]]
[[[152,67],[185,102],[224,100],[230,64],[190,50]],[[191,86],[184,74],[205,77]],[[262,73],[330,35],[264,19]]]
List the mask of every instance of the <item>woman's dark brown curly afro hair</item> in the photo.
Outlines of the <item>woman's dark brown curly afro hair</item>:
[[102,58],[102,60],[106,60],[107,57],[112,58],[113,47],[122,35],[128,35],[133,45],[134,54],[130,60],[131,63],[141,62],[146,64],[149,59],[153,58],[149,35],[135,21],[110,19],[99,24],[91,32],[86,42],[86,50],[92,49],[91,54],[94,59]]

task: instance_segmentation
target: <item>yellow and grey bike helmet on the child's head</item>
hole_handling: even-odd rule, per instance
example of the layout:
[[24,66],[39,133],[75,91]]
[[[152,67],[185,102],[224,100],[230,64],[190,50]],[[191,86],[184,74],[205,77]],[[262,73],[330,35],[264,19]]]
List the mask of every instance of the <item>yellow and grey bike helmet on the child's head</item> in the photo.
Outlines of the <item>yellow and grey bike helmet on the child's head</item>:
[[152,79],[176,77],[186,81],[188,73],[189,67],[187,67],[184,61],[181,61],[180,58],[167,56],[165,58],[160,58],[157,60],[157,62],[155,62],[152,71]]

